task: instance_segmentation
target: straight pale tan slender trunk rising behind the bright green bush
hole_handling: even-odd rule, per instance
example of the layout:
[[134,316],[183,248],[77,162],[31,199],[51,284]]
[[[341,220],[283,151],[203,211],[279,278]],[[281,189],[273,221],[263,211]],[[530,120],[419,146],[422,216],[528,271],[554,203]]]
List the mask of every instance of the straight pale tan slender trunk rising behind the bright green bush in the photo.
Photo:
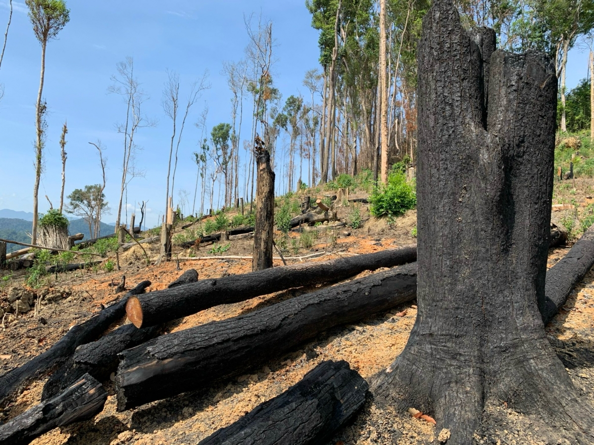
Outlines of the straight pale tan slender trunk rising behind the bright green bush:
[[381,182],[388,181],[388,87],[386,66],[386,0],[380,0],[380,68],[378,88],[380,90],[380,152]]

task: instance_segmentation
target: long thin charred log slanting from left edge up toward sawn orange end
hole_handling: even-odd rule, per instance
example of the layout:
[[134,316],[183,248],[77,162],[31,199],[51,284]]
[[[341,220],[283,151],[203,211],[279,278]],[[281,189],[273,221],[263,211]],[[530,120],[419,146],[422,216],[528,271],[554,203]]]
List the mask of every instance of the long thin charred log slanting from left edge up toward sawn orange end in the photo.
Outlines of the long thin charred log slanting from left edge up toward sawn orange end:
[[47,371],[55,365],[61,365],[66,358],[83,344],[94,341],[109,325],[125,315],[125,306],[128,297],[138,295],[150,286],[150,281],[143,281],[129,291],[124,298],[112,306],[106,307],[100,313],[91,317],[80,325],[74,325],[59,341],[37,357],[29,360],[18,368],[14,368],[0,376],[0,404],[21,386],[34,377]]

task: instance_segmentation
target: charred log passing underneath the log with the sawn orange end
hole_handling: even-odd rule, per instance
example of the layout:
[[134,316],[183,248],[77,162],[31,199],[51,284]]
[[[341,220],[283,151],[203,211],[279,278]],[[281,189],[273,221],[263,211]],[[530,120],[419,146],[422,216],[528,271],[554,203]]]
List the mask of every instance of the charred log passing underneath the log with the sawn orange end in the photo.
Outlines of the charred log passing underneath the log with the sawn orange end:
[[[169,287],[196,281],[198,281],[198,272],[188,269],[169,284]],[[108,379],[109,375],[118,368],[120,352],[154,338],[159,335],[160,329],[160,326],[138,329],[128,324],[120,326],[95,342],[79,346],[72,357],[49,377],[48,382],[43,386],[42,400],[52,398],[64,391],[86,373],[100,382]]]

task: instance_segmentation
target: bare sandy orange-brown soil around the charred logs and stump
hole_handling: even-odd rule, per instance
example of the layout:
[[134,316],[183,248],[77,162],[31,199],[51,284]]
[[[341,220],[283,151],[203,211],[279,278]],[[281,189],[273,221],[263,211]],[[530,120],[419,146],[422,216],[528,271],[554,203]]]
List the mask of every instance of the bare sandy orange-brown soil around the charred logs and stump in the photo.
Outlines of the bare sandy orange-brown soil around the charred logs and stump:
[[[585,200],[590,196],[590,183],[584,184],[575,199]],[[568,200],[564,190],[557,190],[560,202]],[[583,196],[582,196],[583,195]],[[563,211],[565,212],[565,210]],[[580,208],[580,215],[587,212]],[[557,212],[555,212],[557,213]],[[362,213],[368,218],[368,214]],[[571,215],[570,215],[571,216]],[[567,217],[568,218],[568,217]],[[579,220],[579,215],[576,215]],[[563,219],[558,215],[557,220]],[[370,219],[358,230],[331,231],[320,236],[311,249],[301,249],[297,255],[328,253],[320,261],[337,258],[339,253],[367,253],[414,242],[410,231],[415,227],[415,212],[397,218],[393,224],[385,220]],[[347,234],[349,233],[350,234]],[[298,237],[298,234],[293,234]],[[154,247],[156,249],[156,247]],[[552,250],[549,266],[563,257],[568,247]],[[249,254],[249,240],[237,241],[225,255]],[[149,252],[156,256],[156,252]],[[187,252],[178,252],[179,256]],[[204,252],[206,253],[206,252]],[[10,284],[17,290],[5,287],[2,290],[0,307],[7,314],[4,328],[0,330],[0,373],[20,365],[34,355],[48,349],[74,323],[87,319],[100,309],[100,304],[116,300],[112,282],[119,282],[122,274],[127,276],[128,288],[144,279],[150,279],[151,290],[166,287],[184,270],[195,268],[200,278],[215,278],[228,274],[249,271],[247,260],[181,261],[159,266],[147,266],[140,249],[131,249],[120,257],[122,271],[88,271],[61,274],[48,286],[34,292],[23,291],[18,276]],[[275,261],[275,265],[280,265]],[[368,272],[366,272],[368,273]],[[213,320],[225,319],[254,310],[279,300],[290,298],[298,291],[265,295],[242,303],[214,307],[193,316],[177,320],[168,326],[169,332],[186,329]],[[33,307],[40,298],[39,317],[34,309],[26,311],[25,304]],[[11,301],[12,300],[12,301]],[[16,301],[22,313],[15,316]],[[9,313],[10,312],[10,313]],[[113,384],[106,383],[108,402],[103,411],[91,421],[56,429],[33,441],[36,445],[58,444],[195,444],[221,427],[229,425],[242,415],[298,382],[305,373],[324,360],[346,360],[365,378],[386,368],[404,348],[410,329],[415,322],[415,302],[380,314],[356,325],[328,330],[315,341],[302,348],[273,360],[266,366],[252,370],[229,382],[213,384],[203,390],[185,393],[176,398],[150,403],[126,412],[116,412]],[[43,320],[42,320],[43,319]],[[42,320],[42,321],[40,321]],[[45,324],[44,324],[45,322]],[[124,323],[125,320],[121,320]],[[116,326],[112,326],[115,328]],[[551,344],[565,364],[582,399],[594,405],[594,273],[590,272],[571,295],[562,313],[546,328]],[[4,412],[2,421],[30,408],[39,402],[45,379],[39,380],[24,390]],[[413,408],[413,407],[412,407]],[[431,413],[427,413],[431,415]],[[413,418],[408,412],[396,412],[390,407],[377,405],[369,396],[364,410],[343,430],[339,431],[332,445],[363,444],[437,444],[444,438],[440,425],[432,425]],[[442,436],[440,437],[440,433]],[[541,437],[547,437],[542,440]],[[477,444],[571,444],[571,436],[564,431],[551,431],[538,419],[519,415],[504,403],[488,406],[482,431],[476,435]]]

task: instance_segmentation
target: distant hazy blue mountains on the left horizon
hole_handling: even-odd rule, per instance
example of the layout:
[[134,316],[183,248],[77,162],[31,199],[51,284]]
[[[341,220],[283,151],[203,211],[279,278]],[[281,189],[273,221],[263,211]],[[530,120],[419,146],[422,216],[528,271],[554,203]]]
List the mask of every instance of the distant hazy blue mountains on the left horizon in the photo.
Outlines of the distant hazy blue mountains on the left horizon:
[[[2,215],[5,214],[31,215],[31,218],[26,220],[24,218],[3,217]],[[33,214],[28,214],[27,212],[15,212],[14,210],[8,209],[0,210],[0,238],[11,241],[19,241],[21,243],[30,243],[31,239],[29,237],[29,233],[31,233],[31,221],[33,221],[32,217]],[[87,221],[83,220],[82,218],[70,221],[68,232],[71,235],[82,233],[84,234],[84,239],[90,239],[89,224],[87,224]],[[100,232],[101,236],[113,233],[113,225],[104,224],[102,222]],[[8,252],[14,252],[14,250],[22,248],[23,246],[18,246],[18,244],[8,244],[7,246]]]

